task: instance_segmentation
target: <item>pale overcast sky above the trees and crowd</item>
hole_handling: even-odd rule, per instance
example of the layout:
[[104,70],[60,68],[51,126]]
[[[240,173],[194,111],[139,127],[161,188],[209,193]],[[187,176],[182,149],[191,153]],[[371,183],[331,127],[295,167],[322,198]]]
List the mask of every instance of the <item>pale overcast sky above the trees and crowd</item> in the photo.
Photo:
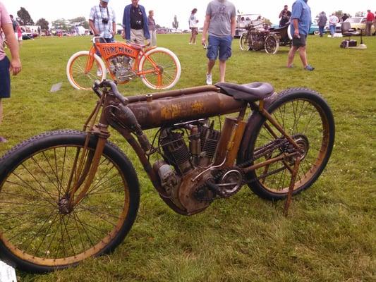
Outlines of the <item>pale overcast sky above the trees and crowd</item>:
[[[29,11],[32,20],[35,22],[40,18],[45,18],[49,22],[58,18],[76,18],[84,16],[88,18],[91,6],[99,4],[99,0],[0,0],[6,6],[9,13],[16,15],[20,7]],[[58,4],[59,3],[59,4]],[[154,19],[157,24],[171,27],[174,15],[177,16],[180,29],[188,29],[188,17],[193,8],[198,9],[198,19],[200,23],[205,18],[205,11],[209,0],[140,0],[139,4],[144,6],[146,11],[154,10]],[[236,10],[241,13],[260,13],[263,17],[278,23],[278,15],[284,4],[291,8],[293,0],[233,0]],[[116,23],[121,23],[124,6],[131,4],[131,0],[110,0],[109,6],[114,8],[116,13]],[[357,11],[376,11],[375,0],[308,0],[313,13],[313,18],[317,13],[325,11],[327,14],[342,10],[352,16]],[[372,5],[371,5],[372,4]]]

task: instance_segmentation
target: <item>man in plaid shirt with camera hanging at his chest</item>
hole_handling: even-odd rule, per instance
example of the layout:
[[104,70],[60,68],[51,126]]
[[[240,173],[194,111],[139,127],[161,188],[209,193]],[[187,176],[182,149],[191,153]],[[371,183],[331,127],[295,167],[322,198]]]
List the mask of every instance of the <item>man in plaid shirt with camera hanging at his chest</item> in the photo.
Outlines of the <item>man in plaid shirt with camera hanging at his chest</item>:
[[109,0],[99,1],[90,11],[89,25],[94,36],[103,37],[107,43],[114,42],[116,35],[116,17],[113,8],[108,6]]

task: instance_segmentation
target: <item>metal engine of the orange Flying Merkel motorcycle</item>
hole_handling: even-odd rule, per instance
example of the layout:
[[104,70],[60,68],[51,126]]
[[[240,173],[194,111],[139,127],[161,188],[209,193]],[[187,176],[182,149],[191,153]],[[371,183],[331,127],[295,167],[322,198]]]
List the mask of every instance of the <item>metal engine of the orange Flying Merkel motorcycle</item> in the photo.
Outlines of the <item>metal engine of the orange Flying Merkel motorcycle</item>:
[[109,59],[109,71],[114,73],[116,80],[119,82],[133,80],[137,76],[132,68],[133,61],[134,59],[128,56],[113,57]]

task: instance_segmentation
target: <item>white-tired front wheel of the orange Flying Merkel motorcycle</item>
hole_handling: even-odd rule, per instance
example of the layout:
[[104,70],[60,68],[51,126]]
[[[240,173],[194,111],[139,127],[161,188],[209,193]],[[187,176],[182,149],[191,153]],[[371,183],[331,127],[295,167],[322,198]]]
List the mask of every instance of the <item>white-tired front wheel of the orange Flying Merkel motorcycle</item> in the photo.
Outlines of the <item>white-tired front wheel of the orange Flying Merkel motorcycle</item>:
[[106,78],[106,66],[102,59],[89,51],[79,51],[68,60],[66,64],[66,76],[69,83],[77,90],[91,90],[95,80]]

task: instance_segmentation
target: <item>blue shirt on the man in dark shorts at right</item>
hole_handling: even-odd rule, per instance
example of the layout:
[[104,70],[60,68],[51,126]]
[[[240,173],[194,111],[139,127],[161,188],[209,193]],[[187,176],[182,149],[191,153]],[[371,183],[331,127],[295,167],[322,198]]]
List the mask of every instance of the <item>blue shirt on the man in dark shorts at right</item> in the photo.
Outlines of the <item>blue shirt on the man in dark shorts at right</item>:
[[312,22],[310,7],[307,4],[308,0],[296,0],[291,11],[291,34],[295,31],[293,27],[293,19],[298,20],[299,34],[308,35],[310,31],[310,24]]

